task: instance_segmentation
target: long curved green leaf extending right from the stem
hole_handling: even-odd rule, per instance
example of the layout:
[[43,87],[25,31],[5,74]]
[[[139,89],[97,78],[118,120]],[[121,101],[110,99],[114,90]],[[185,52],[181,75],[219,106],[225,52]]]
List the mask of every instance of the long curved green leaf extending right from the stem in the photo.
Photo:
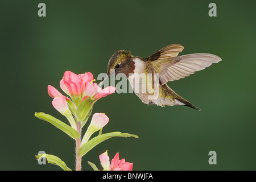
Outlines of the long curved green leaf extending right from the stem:
[[129,133],[121,133],[121,132],[112,132],[112,133],[98,135],[97,137],[90,139],[88,142],[86,142],[84,145],[81,146],[81,148],[79,150],[79,155],[80,156],[85,155],[93,147],[97,146],[97,144],[103,142],[106,139],[112,138],[112,137],[135,137],[135,138],[138,138],[137,135],[132,135]]

